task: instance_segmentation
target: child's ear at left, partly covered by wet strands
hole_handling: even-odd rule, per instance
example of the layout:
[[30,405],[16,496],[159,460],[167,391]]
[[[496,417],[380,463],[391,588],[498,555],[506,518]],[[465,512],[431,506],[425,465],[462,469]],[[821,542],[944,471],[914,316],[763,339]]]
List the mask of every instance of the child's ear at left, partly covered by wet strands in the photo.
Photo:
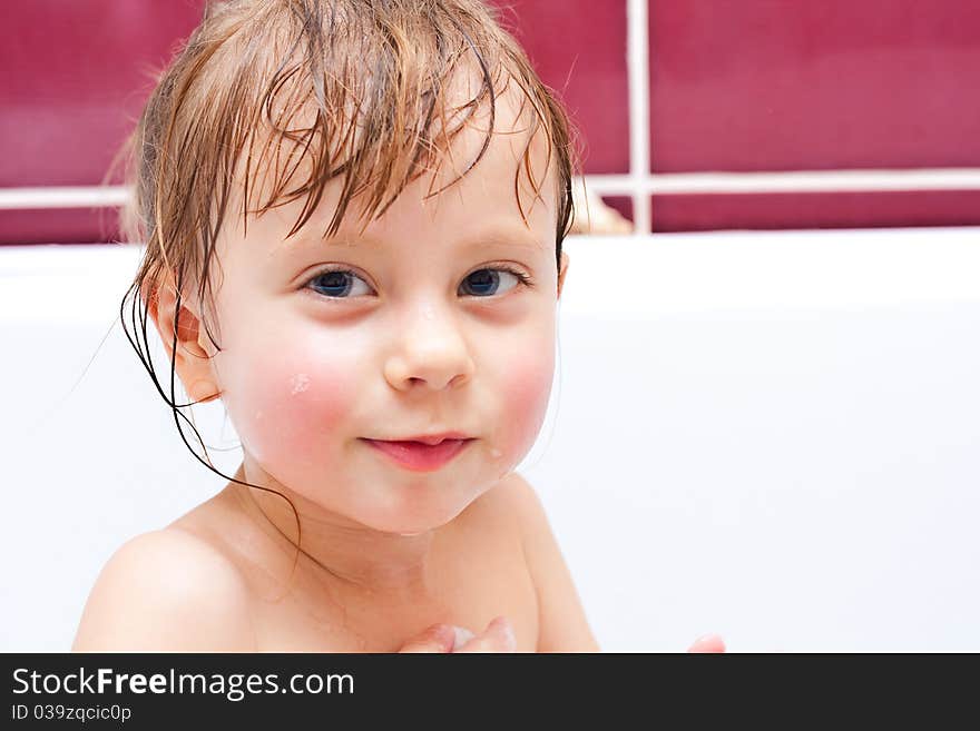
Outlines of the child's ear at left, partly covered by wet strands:
[[[184,384],[184,391],[194,403],[214,401],[220,396],[217,376],[208,354],[207,333],[200,320],[199,308],[182,297],[177,317],[177,288],[173,279],[164,281],[147,295],[147,312],[153,318],[164,349],[174,363],[174,369]],[[174,347],[174,330],[177,343]]]

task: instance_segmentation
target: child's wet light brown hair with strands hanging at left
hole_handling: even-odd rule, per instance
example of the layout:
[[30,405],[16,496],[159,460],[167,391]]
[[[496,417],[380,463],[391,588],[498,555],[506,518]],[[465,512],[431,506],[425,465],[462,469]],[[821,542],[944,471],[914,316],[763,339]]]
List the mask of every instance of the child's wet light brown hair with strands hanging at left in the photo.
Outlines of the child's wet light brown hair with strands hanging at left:
[[[476,80],[462,99],[453,83],[460,78]],[[521,178],[533,191],[533,206],[547,170],[553,169],[560,268],[574,215],[571,128],[494,10],[480,0],[208,3],[128,142],[134,197],[122,229],[127,240],[144,241],[146,253],[120,308],[127,338],[173,409],[184,443],[203,464],[232,482],[285,497],[224,475],[187,441],[182,419],[207,455],[180,411],[199,402],[178,404],[174,358],[165,389],[150,357],[147,314],[160,288],[176,289],[171,355],[182,298],[188,294],[220,350],[206,314],[214,303],[215,244],[229,217],[241,215],[247,227],[249,216],[300,202],[292,236],[310,220],[325,186],[340,181],[340,199],[323,235],[336,234],[351,215],[366,226],[410,182],[452,158],[450,146],[460,131],[478,129],[482,146],[447,185],[430,186],[427,195],[437,196],[478,165],[494,134],[498,100],[508,90],[520,99],[517,118],[528,120],[513,181],[518,209],[527,223]],[[536,176],[531,144],[539,135],[547,165]],[[298,515],[296,523],[298,547]]]

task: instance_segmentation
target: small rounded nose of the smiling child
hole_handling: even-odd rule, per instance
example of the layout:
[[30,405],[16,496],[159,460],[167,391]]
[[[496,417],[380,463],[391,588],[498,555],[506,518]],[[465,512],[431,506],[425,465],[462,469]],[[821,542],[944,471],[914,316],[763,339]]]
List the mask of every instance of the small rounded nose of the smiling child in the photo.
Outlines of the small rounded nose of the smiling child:
[[469,381],[473,369],[457,316],[423,303],[399,323],[396,347],[385,362],[384,376],[399,391],[442,391]]

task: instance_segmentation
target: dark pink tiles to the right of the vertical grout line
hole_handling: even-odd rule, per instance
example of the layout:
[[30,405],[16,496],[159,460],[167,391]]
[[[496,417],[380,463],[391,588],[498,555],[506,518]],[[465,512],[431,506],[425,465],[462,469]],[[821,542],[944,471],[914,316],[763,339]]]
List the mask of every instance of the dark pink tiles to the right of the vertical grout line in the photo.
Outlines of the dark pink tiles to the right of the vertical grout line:
[[[656,172],[980,168],[976,0],[653,0]],[[980,224],[963,191],[663,196],[655,230]]]

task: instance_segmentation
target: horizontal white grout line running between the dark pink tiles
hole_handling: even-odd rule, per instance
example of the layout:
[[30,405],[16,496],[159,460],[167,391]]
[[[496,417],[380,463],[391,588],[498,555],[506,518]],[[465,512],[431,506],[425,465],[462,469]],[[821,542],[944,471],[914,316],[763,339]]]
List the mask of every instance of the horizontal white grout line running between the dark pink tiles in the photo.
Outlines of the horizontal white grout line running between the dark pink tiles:
[[[586,187],[596,195],[633,196],[640,201],[651,195],[980,190],[980,168],[587,175]],[[125,186],[0,188],[0,210],[117,208],[128,200]]]

